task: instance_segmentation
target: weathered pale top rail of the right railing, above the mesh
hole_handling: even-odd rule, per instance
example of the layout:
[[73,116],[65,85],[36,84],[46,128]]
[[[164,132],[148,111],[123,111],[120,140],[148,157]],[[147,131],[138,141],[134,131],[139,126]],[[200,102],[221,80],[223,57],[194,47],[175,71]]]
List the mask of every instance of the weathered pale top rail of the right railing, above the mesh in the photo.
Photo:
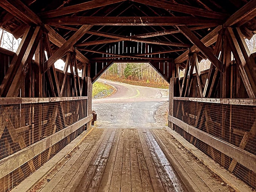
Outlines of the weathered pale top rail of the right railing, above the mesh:
[[216,103],[216,104],[228,104],[228,105],[252,105],[252,106],[256,106],[256,99],[219,99],[219,98],[181,98],[181,97],[174,97],[174,100],[195,101],[195,102]]

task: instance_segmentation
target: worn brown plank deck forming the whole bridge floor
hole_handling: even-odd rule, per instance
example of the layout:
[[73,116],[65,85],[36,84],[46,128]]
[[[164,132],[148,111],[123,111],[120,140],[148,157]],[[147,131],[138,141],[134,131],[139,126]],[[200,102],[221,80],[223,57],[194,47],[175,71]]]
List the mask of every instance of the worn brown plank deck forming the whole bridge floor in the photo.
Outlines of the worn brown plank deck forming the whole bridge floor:
[[47,178],[38,191],[230,191],[165,129],[95,128]]

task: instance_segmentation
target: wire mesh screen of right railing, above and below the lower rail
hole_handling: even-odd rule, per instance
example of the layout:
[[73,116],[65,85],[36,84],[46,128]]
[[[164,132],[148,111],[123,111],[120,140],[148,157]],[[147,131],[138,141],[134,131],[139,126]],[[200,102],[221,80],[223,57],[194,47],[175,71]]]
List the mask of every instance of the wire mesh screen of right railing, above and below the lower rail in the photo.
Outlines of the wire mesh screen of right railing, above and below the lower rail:
[[[256,106],[174,100],[174,117],[256,155]],[[255,172],[174,125],[175,131],[256,188]]]

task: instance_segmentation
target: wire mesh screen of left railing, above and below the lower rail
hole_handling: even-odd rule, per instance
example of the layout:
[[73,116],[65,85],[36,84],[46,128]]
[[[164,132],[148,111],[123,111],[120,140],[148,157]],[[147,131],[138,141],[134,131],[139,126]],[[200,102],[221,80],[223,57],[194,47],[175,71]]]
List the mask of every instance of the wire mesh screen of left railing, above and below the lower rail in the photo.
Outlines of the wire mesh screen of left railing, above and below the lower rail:
[[[0,160],[58,133],[85,117],[87,99],[0,105]],[[81,126],[29,162],[0,178],[0,192],[11,190],[85,129],[85,125]]]

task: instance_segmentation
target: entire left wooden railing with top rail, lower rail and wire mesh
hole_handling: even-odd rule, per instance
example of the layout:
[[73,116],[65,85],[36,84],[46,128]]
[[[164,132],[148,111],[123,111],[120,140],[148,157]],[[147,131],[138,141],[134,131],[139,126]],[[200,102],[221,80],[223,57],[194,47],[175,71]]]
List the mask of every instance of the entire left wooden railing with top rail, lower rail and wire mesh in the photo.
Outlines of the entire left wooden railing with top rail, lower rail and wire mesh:
[[86,130],[92,119],[87,100],[0,98],[1,191],[12,189]]

